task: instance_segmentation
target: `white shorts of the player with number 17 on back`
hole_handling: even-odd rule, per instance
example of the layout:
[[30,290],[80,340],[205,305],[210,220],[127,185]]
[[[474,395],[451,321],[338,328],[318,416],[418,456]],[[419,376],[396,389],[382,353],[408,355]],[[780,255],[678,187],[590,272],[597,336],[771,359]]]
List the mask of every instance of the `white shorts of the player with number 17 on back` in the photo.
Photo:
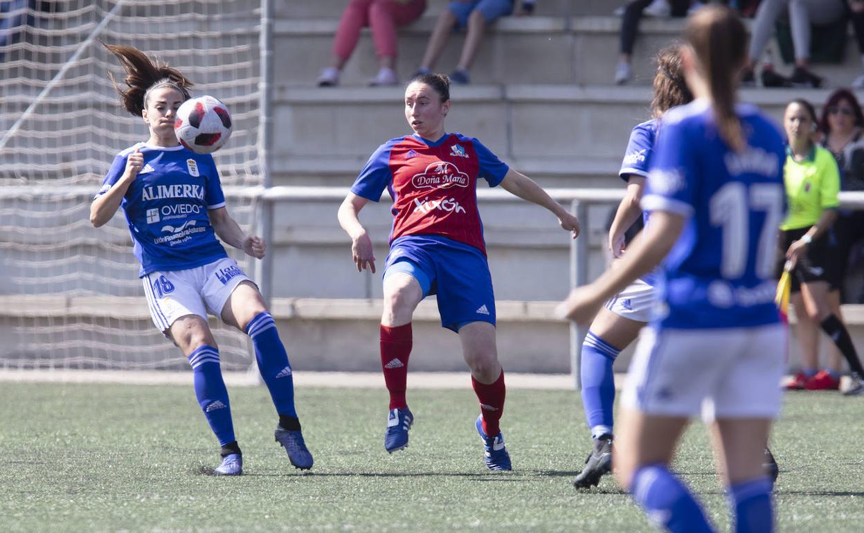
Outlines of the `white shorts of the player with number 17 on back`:
[[776,418],[786,327],[642,330],[621,401],[647,415]]

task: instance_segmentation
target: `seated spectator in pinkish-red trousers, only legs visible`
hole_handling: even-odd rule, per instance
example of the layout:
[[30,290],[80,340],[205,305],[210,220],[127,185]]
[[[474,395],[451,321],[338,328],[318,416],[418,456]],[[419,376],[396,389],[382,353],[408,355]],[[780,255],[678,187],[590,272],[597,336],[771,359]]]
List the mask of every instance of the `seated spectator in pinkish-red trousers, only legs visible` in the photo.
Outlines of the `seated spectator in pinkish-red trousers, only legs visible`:
[[333,64],[321,71],[318,85],[339,85],[342,67],[351,57],[359,41],[360,30],[365,26],[372,29],[372,41],[375,42],[375,54],[380,65],[378,75],[369,80],[369,85],[397,85],[396,28],[416,21],[425,10],[426,0],[350,0],[334,37]]

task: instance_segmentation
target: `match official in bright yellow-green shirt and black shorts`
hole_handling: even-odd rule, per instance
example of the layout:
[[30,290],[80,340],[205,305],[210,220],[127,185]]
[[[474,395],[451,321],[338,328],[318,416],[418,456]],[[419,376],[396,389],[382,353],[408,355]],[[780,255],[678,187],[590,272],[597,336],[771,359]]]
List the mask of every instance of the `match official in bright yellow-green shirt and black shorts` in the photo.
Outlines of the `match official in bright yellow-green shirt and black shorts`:
[[810,102],[792,100],[786,106],[784,128],[789,140],[784,167],[788,214],[780,224],[779,244],[791,266],[790,300],[798,319],[798,345],[804,365],[787,388],[839,388],[839,360],[832,361],[825,371],[816,371],[821,327],[853,371],[854,384],[846,394],[861,395],[864,369],[829,296],[836,266],[836,245],[830,238],[830,229],[837,217],[840,172],[830,152],[813,143],[816,110]]

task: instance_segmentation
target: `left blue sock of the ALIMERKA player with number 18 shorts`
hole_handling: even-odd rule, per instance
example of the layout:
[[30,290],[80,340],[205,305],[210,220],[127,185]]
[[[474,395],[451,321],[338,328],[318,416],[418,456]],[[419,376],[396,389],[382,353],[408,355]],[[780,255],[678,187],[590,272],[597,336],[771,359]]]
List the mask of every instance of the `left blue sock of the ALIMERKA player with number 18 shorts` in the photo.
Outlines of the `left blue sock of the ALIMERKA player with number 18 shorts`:
[[189,354],[189,365],[192,365],[195,397],[198,398],[198,404],[204,411],[210,428],[219,439],[219,446],[236,441],[228,390],[219,368],[219,350],[213,346],[199,346]]

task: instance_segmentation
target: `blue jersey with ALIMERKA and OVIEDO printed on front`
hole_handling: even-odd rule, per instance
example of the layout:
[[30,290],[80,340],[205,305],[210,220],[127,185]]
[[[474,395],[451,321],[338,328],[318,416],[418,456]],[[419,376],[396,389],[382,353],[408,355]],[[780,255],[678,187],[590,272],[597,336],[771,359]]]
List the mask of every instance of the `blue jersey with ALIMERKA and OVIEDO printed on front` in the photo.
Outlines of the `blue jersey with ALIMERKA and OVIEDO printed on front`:
[[129,155],[138,148],[143,167],[120,207],[126,216],[139,276],[156,270],[186,270],[228,257],[210,225],[208,209],[225,206],[213,156],[183,146],[162,148],[137,143],[111,164],[98,195],[120,179]]

